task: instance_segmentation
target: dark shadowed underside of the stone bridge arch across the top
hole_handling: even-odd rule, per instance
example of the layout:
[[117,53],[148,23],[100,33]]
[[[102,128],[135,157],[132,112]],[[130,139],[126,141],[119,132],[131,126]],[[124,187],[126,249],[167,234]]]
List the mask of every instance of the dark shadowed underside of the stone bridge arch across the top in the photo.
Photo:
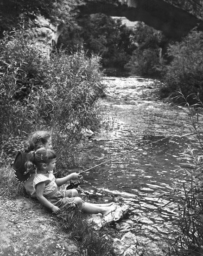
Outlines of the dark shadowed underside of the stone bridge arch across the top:
[[[169,3],[170,1],[173,2],[173,0],[83,0],[76,9],[81,15],[105,13],[110,16],[126,17],[130,21],[140,20],[148,26],[163,31],[173,40],[180,40],[194,27],[203,30],[202,0],[190,0],[195,5],[198,1],[196,13],[194,8],[193,10],[189,8],[191,6],[188,6],[189,9],[187,6],[181,8]],[[177,0],[178,2],[185,4],[187,1]]]

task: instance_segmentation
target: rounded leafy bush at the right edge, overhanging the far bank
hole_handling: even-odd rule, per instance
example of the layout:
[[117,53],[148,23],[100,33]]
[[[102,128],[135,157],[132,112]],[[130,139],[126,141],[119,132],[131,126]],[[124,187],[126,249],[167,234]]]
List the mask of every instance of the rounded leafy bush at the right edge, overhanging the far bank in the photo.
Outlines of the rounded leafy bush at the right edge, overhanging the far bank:
[[[203,32],[192,30],[181,42],[168,47],[172,58],[165,68],[163,81],[168,93],[181,90],[184,95],[197,94],[203,100]],[[193,98],[188,98],[194,103]]]

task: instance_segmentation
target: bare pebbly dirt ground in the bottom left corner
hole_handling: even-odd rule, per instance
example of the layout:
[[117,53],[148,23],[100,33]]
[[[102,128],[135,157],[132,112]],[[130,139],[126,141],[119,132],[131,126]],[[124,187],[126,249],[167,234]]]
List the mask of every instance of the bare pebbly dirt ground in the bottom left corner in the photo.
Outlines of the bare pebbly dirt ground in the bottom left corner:
[[70,256],[77,251],[69,234],[35,199],[0,198],[1,256]]

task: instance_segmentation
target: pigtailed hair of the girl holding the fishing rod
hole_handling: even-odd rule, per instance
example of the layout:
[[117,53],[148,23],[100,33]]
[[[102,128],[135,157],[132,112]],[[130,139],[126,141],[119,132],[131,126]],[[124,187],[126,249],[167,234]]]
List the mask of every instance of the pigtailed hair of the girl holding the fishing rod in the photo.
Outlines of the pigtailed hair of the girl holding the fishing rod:
[[27,171],[32,172],[36,167],[41,169],[43,163],[49,163],[52,159],[56,158],[56,153],[51,149],[39,148],[36,151],[31,151],[27,154],[27,161],[25,168]]

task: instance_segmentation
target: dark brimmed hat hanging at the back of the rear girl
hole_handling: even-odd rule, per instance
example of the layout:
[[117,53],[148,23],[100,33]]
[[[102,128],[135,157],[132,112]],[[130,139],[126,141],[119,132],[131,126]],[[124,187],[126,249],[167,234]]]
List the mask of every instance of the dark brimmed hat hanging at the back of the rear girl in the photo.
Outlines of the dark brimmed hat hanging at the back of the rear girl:
[[31,174],[25,168],[27,153],[19,151],[13,163],[14,175],[19,182],[25,182]]

